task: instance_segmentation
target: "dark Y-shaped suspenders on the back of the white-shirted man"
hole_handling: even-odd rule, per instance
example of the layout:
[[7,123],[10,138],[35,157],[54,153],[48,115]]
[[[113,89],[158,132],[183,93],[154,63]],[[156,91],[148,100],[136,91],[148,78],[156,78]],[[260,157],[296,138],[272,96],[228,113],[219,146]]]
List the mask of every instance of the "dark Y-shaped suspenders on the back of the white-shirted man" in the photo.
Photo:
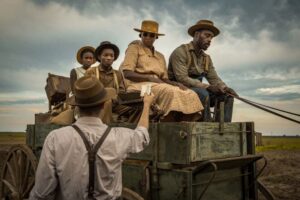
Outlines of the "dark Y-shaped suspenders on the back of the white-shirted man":
[[108,133],[110,132],[110,127],[107,127],[102,137],[99,139],[99,141],[96,143],[94,148],[91,148],[88,140],[86,139],[84,133],[78,126],[75,124],[72,125],[72,127],[77,131],[77,133],[80,135],[80,137],[83,140],[83,143],[85,145],[86,150],[88,151],[88,162],[89,162],[89,186],[88,186],[88,197],[90,199],[94,199],[93,193],[94,193],[94,187],[95,187],[95,160],[96,160],[96,154],[98,149],[103,144],[105,138],[107,137]]

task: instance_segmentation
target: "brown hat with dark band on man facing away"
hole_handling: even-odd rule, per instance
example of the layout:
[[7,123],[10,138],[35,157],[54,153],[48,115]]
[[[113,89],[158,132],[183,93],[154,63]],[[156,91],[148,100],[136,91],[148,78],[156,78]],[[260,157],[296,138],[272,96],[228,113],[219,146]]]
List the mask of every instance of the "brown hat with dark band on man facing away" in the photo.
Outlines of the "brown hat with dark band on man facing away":
[[113,88],[104,88],[94,76],[83,76],[74,84],[74,95],[68,100],[72,106],[93,107],[115,98]]

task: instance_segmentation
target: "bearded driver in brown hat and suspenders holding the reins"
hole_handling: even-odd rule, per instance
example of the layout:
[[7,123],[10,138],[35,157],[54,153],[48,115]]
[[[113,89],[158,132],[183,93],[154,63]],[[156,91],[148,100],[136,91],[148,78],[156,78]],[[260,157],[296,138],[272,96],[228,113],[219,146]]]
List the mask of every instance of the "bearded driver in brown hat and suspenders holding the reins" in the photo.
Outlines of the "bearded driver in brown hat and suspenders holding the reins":
[[[220,33],[212,21],[200,20],[188,29],[193,41],[177,47],[171,54],[168,66],[168,75],[171,80],[178,81],[197,93],[203,106],[203,120],[211,121],[210,107],[224,101],[224,121],[231,122],[233,96],[237,93],[227,87],[218,76],[212,60],[204,51],[211,41]],[[206,78],[209,84],[202,83]],[[219,116],[216,116],[219,120]]]

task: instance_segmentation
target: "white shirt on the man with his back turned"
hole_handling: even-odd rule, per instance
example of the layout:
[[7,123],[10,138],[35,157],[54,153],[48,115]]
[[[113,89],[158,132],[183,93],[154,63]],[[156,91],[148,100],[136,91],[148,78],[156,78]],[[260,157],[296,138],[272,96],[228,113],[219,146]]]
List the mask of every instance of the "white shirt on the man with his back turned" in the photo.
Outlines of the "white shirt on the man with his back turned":
[[[96,144],[107,128],[96,117],[81,117],[75,124],[90,144]],[[149,140],[145,127],[111,129],[95,161],[96,199],[121,196],[122,162],[128,153],[142,151]],[[29,199],[87,199],[88,177],[88,155],[80,135],[71,126],[54,130],[44,142]]]

